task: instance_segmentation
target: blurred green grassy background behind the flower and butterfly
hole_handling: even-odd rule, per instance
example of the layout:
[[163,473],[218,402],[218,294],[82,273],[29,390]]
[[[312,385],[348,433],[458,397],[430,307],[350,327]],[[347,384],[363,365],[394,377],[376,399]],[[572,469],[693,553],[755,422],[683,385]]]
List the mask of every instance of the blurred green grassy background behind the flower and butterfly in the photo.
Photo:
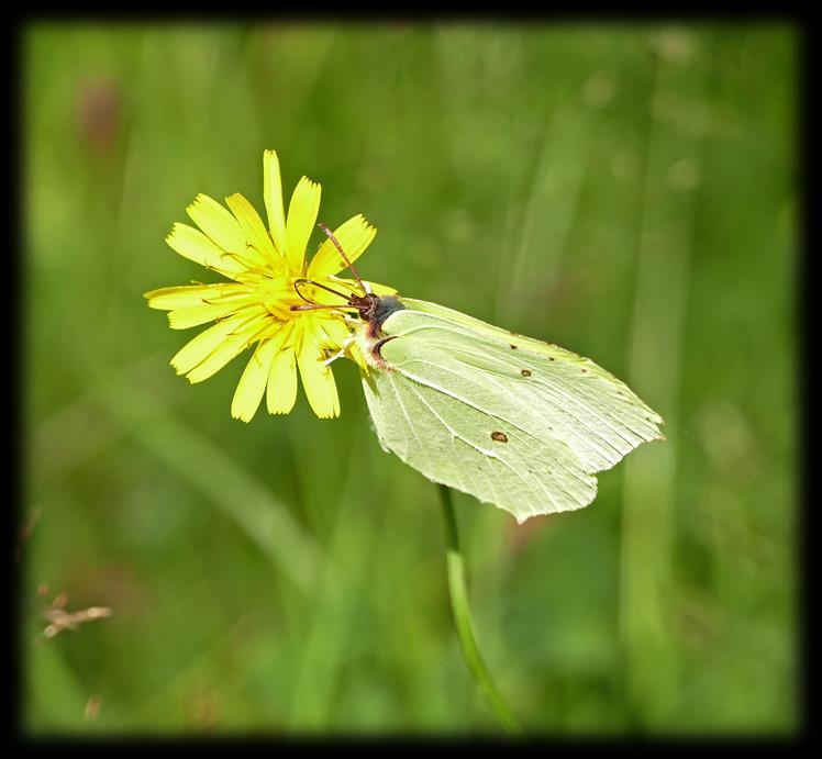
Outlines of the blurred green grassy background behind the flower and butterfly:
[[[496,732],[460,659],[433,485],[343,413],[230,416],[142,293],[215,276],[198,192],[322,182],[363,276],[555,342],[666,420],[588,509],[457,495],[475,623],[526,729],[797,727],[790,26],[23,30],[23,728]],[[320,243],[319,232],[311,249]],[[54,637],[44,612],[112,616]]]

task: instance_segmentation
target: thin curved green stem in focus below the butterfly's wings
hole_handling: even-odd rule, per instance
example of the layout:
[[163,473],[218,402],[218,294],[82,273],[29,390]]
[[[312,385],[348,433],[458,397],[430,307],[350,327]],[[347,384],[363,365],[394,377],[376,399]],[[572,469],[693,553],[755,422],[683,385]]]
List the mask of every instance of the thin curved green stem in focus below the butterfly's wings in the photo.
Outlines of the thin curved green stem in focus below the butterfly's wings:
[[497,685],[493,684],[493,680],[491,680],[488,668],[485,661],[482,661],[482,656],[477,647],[477,640],[474,637],[471,613],[468,605],[468,591],[465,582],[465,560],[459,550],[457,518],[454,514],[451,489],[444,484],[437,485],[437,488],[440,489],[440,500],[443,505],[443,516],[445,517],[446,562],[451,607],[454,612],[454,624],[457,628],[463,658],[465,659],[465,663],[468,665],[477,688],[479,688],[480,693],[485,696],[491,711],[502,723],[502,727],[506,728],[509,735],[518,734],[520,733],[520,727],[502,694],[497,689]]

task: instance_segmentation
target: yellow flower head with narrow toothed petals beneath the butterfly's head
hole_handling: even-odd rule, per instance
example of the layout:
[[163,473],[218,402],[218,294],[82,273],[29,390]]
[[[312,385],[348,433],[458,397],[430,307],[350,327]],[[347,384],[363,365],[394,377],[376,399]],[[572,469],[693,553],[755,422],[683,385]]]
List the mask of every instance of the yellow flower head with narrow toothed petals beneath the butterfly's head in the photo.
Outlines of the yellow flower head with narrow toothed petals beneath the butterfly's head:
[[[320,185],[302,177],[286,216],[274,150],[265,152],[263,168],[267,230],[243,196],[225,199],[229,212],[199,194],[186,211],[200,228],[177,223],[166,238],[181,256],[234,281],[162,288],[145,298],[151,308],[169,312],[174,330],[216,322],[171,359],[177,373],[191,382],[208,379],[256,344],[231,404],[235,418],[249,422],[264,394],[269,413],[291,411],[298,368],[314,413],[322,418],[337,416],[340,399],[327,358],[349,336],[344,313],[332,309],[292,311],[290,306],[304,305],[307,300],[344,304],[341,298],[312,283],[297,282],[299,279],[344,292],[358,292],[357,284],[334,276],[346,265],[331,239],[326,238],[306,265],[306,246],[320,208]],[[359,214],[334,231],[351,261],[375,234],[377,230]],[[379,284],[370,287],[377,293],[393,292]]]

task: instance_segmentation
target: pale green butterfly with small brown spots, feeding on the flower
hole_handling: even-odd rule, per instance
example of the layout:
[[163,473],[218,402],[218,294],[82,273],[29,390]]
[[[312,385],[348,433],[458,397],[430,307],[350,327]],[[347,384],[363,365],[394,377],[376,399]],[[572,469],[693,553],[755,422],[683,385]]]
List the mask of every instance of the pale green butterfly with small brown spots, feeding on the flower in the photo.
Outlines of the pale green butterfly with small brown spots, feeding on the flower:
[[351,268],[364,291],[347,308],[359,314],[352,339],[375,432],[430,480],[523,522],[588,505],[597,472],[663,437],[662,416],[590,359],[436,303],[368,292]]

